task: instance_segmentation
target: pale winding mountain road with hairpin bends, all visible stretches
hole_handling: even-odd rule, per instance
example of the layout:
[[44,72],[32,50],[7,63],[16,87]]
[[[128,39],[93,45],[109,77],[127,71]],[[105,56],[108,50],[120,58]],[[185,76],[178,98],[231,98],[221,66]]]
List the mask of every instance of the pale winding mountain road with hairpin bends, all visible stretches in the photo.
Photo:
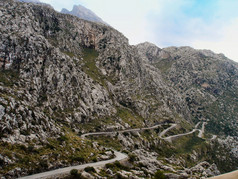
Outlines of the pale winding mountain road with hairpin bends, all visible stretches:
[[[193,129],[191,132],[187,132],[187,133],[173,135],[173,136],[163,138],[162,136],[164,136],[169,130],[172,130],[173,128],[175,128],[177,126],[177,124],[171,124],[171,126],[169,128],[163,130],[159,134],[159,137],[161,139],[166,140],[166,141],[172,142],[173,139],[176,139],[176,138],[181,137],[181,136],[192,134],[195,131],[199,131],[198,137],[200,137],[200,136],[203,135],[204,128],[205,128],[205,122],[202,125],[202,130],[197,129],[199,124],[200,124],[200,122],[195,125],[195,129]],[[143,130],[149,130],[149,129],[156,129],[159,126],[162,126],[162,124],[157,124],[157,125],[152,126],[152,127],[144,127],[144,128],[137,128],[137,129],[126,129],[126,130],[114,131],[114,132],[92,132],[92,133],[86,133],[86,134],[81,135],[81,138],[85,138],[85,137],[90,136],[90,135],[111,135],[111,134],[115,134],[115,133],[143,131]],[[82,169],[84,169],[88,166],[102,167],[102,166],[104,166],[108,163],[113,163],[115,161],[122,161],[122,160],[125,160],[125,159],[128,158],[128,155],[126,155],[124,153],[121,153],[121,152],[118,152],[118,151],[114,151],[114,154],[115,154],[116,157],[113,158],[113,159],[110,159],[110,160],[60,168],[60,169],[51,170],[51,171],[48,171],[48,172],[43,172],[43,173],[38,173],[38,174],[35,174],[35,175],[29,175],[29,176],[21,177],[19,179],[39,179],[39,178],[53,177],[53,176],[57,176],[57,175],[60,175],[60,174],[69,173],[70,170],[72,170],[72,169],[82,170]]]

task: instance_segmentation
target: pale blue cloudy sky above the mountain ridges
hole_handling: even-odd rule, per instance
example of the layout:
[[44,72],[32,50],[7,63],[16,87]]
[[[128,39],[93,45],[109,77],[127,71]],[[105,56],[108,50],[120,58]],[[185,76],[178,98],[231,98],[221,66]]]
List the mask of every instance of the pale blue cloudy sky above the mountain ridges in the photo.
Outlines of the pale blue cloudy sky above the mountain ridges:
[[191,46],[238,62],[238,0],[41,0],[57,11],[83,5],[132,45]]

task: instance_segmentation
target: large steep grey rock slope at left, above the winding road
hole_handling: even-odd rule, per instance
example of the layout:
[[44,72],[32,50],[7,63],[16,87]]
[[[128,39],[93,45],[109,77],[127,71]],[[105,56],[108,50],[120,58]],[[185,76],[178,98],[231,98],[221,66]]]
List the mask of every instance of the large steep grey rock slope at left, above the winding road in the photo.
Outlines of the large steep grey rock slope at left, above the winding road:
[[176,120],[178,113],[189,117],[181,96],[116,30],[43,5],[1,3],[1,133],[6,140],[22,130],[34,133],[31,123],[39,121],[41,128],[40,118],[50,133],[58,131],[51,127],[57,120],[75,123],[79,130],[78,123],[116,117],[120,107],[155,121]]

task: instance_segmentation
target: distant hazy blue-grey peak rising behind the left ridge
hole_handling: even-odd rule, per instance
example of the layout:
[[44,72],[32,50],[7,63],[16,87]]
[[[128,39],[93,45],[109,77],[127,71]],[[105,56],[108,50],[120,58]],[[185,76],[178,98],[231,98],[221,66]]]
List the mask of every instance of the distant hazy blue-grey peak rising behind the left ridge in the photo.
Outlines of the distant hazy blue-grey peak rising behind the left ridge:
[[98,17],[94,12],[92,12],[90,9],[85,8],[81,5],[74,5],[72,11],[69,11],[65,8],[61,10],[61,13],[64,14],[71,14],[73,16],[77,16],[80,19],[92,21],[92,22],[99,22],[102,24],[106,24],[100,17]]

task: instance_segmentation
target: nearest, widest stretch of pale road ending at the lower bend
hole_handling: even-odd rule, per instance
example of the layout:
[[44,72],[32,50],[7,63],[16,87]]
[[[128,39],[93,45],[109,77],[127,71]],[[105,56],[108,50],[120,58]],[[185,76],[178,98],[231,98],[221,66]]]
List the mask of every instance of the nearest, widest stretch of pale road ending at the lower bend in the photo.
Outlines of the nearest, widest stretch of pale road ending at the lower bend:
[[83,165],[60,168],[60,169],[56,169],[56,170],[52,170],[52,171],[48,171],[48,172],[44,172],[44,173],[29,175],[29,176],[26,176],[26,177],[22,177],[20,179],[39,179],[39,178],[52,177],[54,175],[69,173],[70,170],[72,170],[72,169],[82,170],[82,169],[84,169],[86,167],[89,167],[89,166],[90,167],[103,167],[104,165],[106,165],[108,163],[113,163],[117,160],[121,161],[121,160],[124,160],[128,157],[126,154],[123,154],[123,153],[117,152],[117,151],[114,151],[114,154],[116,156],[114,159],[95,162],[95,163],[87,163],[87,164],[83,164]]

